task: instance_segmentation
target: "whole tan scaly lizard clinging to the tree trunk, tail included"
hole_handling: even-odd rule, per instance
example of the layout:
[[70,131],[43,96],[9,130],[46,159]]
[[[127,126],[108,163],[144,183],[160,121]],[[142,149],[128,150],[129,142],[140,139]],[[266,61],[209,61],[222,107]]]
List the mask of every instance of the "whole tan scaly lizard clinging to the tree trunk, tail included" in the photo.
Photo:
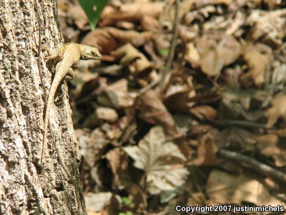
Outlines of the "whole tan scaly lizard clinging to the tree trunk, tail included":
[[50,53],[48,59],[57,59],[59,62],[56,65],[56,73],[46,104],[45,120],[44,120],[44,137],[41,152],[41,167],[44,160],[44,152],[47,144],[47,130],[49,125],[50,109],[54,103],[54,96],[58,86],[63,78],[66,80],[73,79],[72,67],[75,66],[79,59],[83,60],[98,60],[101,59],[99,50],[92,46],[81,45],[77,43],[66,43],[60,49],[54,50]]

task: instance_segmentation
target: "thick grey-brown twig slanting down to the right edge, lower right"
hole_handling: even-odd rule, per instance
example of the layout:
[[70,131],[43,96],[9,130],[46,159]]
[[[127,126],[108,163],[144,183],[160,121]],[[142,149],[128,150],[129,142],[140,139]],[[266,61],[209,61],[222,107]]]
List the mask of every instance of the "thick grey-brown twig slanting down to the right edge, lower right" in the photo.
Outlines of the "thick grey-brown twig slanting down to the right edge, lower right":
[[268,175],[273,176],[279,179],[280,181],[286,183],[286,174],[284,172],[281,172],[272,167],[269,167],[259,161],[256,161],[253,158],[239,154],[237,152],[231,152],[225,149],[218,150],[217,155],[220,158],[233,160],[241,164],[247,164],[255,171],[261,172],[262,174],[267,175],[267,176]]

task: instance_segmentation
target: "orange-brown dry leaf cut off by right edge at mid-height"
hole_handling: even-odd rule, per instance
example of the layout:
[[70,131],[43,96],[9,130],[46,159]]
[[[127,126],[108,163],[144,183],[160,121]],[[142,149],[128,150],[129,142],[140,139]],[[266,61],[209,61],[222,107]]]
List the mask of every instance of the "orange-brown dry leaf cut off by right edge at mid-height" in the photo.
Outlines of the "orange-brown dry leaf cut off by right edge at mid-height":
[[286,94],[278,93],[271,101],[272,107],[268,109],[267,125],[272,127],[279,118],[286,122]]

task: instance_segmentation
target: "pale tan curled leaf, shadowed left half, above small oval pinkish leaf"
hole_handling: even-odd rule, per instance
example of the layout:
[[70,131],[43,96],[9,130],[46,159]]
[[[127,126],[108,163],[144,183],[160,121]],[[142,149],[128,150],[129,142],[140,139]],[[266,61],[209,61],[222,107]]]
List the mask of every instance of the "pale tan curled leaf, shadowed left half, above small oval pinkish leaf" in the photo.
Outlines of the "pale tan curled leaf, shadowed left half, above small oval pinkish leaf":
[[104,106],[114,108],[132,106],[134,98],[128,92],[127,80],[120,79],[107,86],[103,93],[98,96],[98,102]]

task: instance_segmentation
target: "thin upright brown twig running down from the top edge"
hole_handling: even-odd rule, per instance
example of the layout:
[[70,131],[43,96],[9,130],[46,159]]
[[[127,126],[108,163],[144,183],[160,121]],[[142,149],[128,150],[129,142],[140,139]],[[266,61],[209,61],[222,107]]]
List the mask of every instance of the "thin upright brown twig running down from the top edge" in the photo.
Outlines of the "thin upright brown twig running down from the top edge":
[[165,70],[162,72],[162,76],[161,76],[161,79],[159,81],[159,88],[161,91],[164,88],[166,76],[167,76],[168,72],[170,71],[170,69],[172,67],[173,60],[174,60],[175,48],[177,45],[177,38],[178,38],[178,34],[179,34],[179,4],[180,4],[180,1],[176,0],[176,13],[175,13],[175,21],[174,21],[174,27],[173,27],[174,33],[173,33],[171,48],[170,48],[170,52],[168,55]]

